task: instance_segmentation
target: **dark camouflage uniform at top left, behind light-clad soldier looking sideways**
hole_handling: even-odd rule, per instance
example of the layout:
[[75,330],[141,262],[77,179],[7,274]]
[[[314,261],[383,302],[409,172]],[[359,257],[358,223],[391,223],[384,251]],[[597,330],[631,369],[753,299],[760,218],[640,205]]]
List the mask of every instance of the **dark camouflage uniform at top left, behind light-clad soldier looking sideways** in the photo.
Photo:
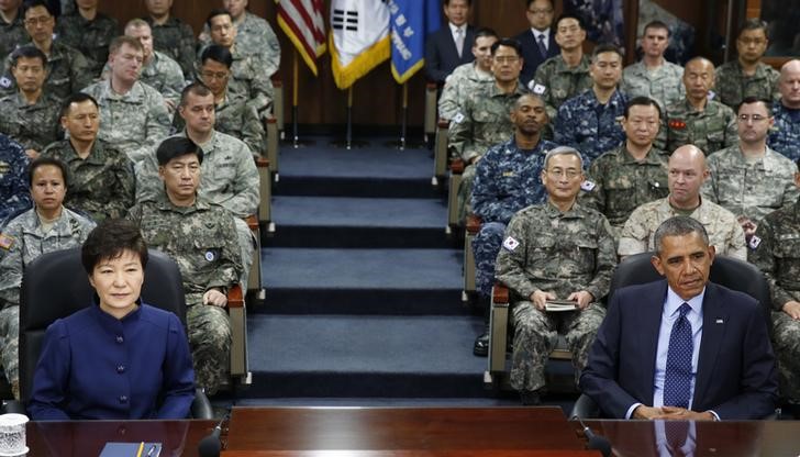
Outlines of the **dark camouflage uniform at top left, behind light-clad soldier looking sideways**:
[[109,59],[109,45],[120,34],[120,25],[115,19],[100,12],[91,21],[76,12],[59,16],[55,33],[62,43],[82,53],[91,76],[99,77]]

